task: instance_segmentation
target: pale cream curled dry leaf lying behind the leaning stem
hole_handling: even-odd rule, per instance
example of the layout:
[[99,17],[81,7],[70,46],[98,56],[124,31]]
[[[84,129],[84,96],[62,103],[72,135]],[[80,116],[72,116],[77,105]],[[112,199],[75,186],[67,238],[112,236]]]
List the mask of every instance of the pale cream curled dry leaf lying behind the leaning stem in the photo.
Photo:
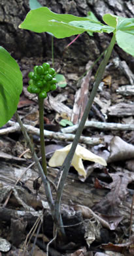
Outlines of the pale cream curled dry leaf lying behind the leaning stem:
[[[56,150],[52,158],[50,158],[48,165],[50,167],[61,166],[67,154],[69,153],[71,146],[72,144],[69,144],[65,146],[65,148]],[[78,173],[84,177],[86,177],[86,171],[84,169],[82,160],[94,161],[95,163],[100,163],[101,165],[104,165],[104,166],[107,165],[107,162],[103,158],[93,154],[92,152],[90,152],[90,150],[87,150],[83,146],[77,145],[71,164],[73,165],[73,167],[75,167],[76,171],[78,171]]]

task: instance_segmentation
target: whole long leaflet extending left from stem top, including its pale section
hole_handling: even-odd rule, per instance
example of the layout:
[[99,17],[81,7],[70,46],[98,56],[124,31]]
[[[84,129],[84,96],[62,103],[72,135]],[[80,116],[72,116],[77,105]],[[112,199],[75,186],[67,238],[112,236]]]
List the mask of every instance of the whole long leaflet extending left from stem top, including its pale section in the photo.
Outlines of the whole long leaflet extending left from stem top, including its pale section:
[[109,26],[71,14],[56,14],[47,7],[31,10],[19,28],[33,32],[50,32],[55,37],[64,38],[83,32],[107,32],[114,29]]

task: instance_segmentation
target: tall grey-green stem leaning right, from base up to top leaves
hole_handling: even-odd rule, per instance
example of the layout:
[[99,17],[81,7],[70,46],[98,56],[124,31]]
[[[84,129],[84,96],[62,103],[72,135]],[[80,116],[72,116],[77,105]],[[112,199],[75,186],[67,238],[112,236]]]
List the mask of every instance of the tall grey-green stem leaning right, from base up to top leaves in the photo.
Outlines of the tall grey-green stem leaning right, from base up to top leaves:
[[[75,139],[73,140],[71,150],[69,151],[69,154],[67,155],[67,157],[65,158],[65,161],[63,162],[63,165],[62,165],[63,171],[61,173],[61,177],[60,177],[60,181],[59,181],[59,185],[58,185],[58,191],[57,191],[57,194],[56,194],[56,201],[55,201],[55,211],[56,211],[57,215],[60,212],[60,202],[61,202],[61,196],[62,196],[62,192],[63,192],[63,186],[64,186],[65,181],[67,179],[67,174],[69,172],[69,168],[71,166],[71,162],[72,162],[73,156],[75,154],[75,150],[76,150],[76,146],[78,144],[78,140],[80,139],[80,135],[82,134],[82,130],[84,129],[86,119],[87,119],[88,114],[90,112],[90,109],[92,107],[93,100],[95,98],[95,95],[97,93],[97,89],[99,87],[99,83],[101,82],[101,79],[102,79],[103,74],[105,72],[105,67],[107,66],[107,63],[109,62],[110,54],[112,53],[112,49],[113,49],[115,43],[116,43],[116,38],[115,38],[115,35],[113,35],[112,39],[110,41],[110,45],[107,49],[107,53],[105,54],[105,57],[103,58],[100,66],[99,66],[99,69],[98,69],[98,72],[97,72],[97,77],[96,77],[95,83],[93,85],[92,93],[90,95],[90,98],[89,98],[88,103],[86,105],[86,108],[84,110],[84,114],[82,116],[82,119],[80,121],[78,129],[76,131]],[[59,218],[59,216],[58,216],[58,218]]]

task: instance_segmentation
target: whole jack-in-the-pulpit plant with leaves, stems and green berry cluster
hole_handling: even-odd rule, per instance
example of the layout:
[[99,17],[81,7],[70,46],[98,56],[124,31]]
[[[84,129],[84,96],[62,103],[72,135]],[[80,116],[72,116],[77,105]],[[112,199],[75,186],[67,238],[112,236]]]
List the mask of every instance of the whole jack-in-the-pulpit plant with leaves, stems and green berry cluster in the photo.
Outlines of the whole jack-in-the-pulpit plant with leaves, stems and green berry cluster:
[[[47,172],[46,172],[45,158],[44,158],[44,161],[42,160],[42,169],[44,173],[42,173],[41,166],[39,165],[39,161],[37,160],[37,165],[39,165],[39,171],[42,175],[42,180],[44,182],[46,198],[48,200],[50,210],[52,212],[52,217],[56,225],[58,238],[59,240],[64,240],[64,241],[66,239],[66,236],[65,236],[65,229],[63,227],[61,212],[60,212],[60,203],[61,203],[61,196],[63,192],[63,186],[67,178],[71,161],[73,160],[73,156],[76,150],[76,146],[78,144],[78,140],[80,138],[80,135],[84,128],[84,124],[86,122],[86,119],[92,107],[93,99],[97,93],[99,83],[101,82],[101,79],[105,72],[105,67],[109,62],[109,58],[115,43],[117,43],[119,47],[121,47],[124,51],[126,51],[126,53],[129,53],[132,56],[134,56],[134,47],[133,47],[134,18],[124,18],[120,16],[115,16],[113,14],[105,14],[103,16],[103,21],[105,22],[105,24],[102,24],[101,22],[97,22],[95,20],[91,20],[88,17],[83,18],[83,17],[73,16],[71,14],[56,14],[50,11],[47,7],[41,7],[39,9],[31,10],[30,12],[28,12],[24,22],[22,22],[22,24],[20,24],[19,26],[19,28],[21,29],[31,30],[32,32],[37,32],[37,33],[49,32],[49,33],[52,33],[52,35],[54,35],[57,38],[70,37],[71,35],[77,35],[84,32],[112,33],[112,39],[109,43],[109,47],[107,48],[105,56],[99,66],[95,83],[93,85],[92,93],[86,105],[78,130],[76,131],[76,136],[71,146],[71,150],[69,151],[69,154],[67,155],[67,158],[63,163],[62,174],[60,177],[60,181],[58,183],[55,200],[53,200],[52,198],[50,184],[48,182],[48,179],[46,179]],[[17,108],[17,104],[18,104],[18,96],[20,95],[22,90],[22,76],[20,75],[20,70],[18,70],[18,67],[16,67],[16,64],[14,64],[14,61],[10,61],[10,68],[12,72],[8,74],[9,69],[8,69],[7,56],[8,56],[8,59],[11,60],[9,58],[9,55],[10,54],[7,54],[7,52],[5,52],[2,47],[0,47],[0,68],[2,70],[1,77],[0,77],[0,93],[1,93],[0,104],[2,106],[4,115],[5,116],[7,115],[6,118],[5,117],[3,118],[2,115],[0,116],[1,125],[4,125],[4,123],[6,123],[8,119],[10,119],[11,114],[14,114],[13,112]],[[4,68],[3,68],[3,64],[5,64]],[[40,118],[41,137],[44,136],[44,128],[43,128],[43,121],[42,121],[43,120],[42,118],[43,117],[43,100],[44,98],[46,98],[48,91],[56,88],[56,80],[54,78],[55,73],[53,73],[54,70],[47,65],[48,64],[45,64],[45,65],[42,64],[42,66],[38,66],[38,67],[35,66],[33,72],[30,72],[29,74],[28,91],[30,93],[36,93],[39,98],[39,111],[41,116]],[[45,74],[45,72],[48,72],[48,73]],[[7,74],[8,79],[5,74]],[[16,74],[17,74],[17,79],[15,78]],[[11,77],[12,81],[15,81],[16,83],[10,84],[9,77]],[[8,105],[10,106],[10,101],[12,101],[12,98],[10,98],[10,93],[8,93],[7,88],[9,88],[9,85],[10,85],[10,90],[12,91],[12,94],[13,94],[13,90],[16,84],[19,85],[18,90],[16,90],[16,95],[14,95],[14,97],[17,97],[17,100],[15,101],[15,106],[12,109],[12,113],[10,113],[10,109],[9,109],[10,107],[7,109],[7,106]],[[18,121],[19,121],[19,118],[18,118]],[[20,125],[22,127],[22,123],[20,123]],[[24,132],[24,136],[25,134],[26,133]],[[42,155],[43,154],[45,155],[45,152],[43,151],[44,150],[43,143],[41,148],[42,148]],[[34,151],[33,151],[33,156],[35,156]],[[36,160],[36,157],[34,159]]]

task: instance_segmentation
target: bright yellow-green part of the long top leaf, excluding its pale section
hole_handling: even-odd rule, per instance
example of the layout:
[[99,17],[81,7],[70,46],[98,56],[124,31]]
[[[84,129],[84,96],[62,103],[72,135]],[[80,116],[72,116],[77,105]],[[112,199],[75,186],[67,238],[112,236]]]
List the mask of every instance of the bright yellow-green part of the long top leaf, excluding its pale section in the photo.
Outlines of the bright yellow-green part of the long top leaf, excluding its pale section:
[[57,38],[70,37],[86,31],[84,28],[71,26],[69,22],[72,20],[88,20],[88,18],[80,18],[71,14],[57,14],[47,7],[41,7],[29,11],[19,28],[37,33],[50,32]]

